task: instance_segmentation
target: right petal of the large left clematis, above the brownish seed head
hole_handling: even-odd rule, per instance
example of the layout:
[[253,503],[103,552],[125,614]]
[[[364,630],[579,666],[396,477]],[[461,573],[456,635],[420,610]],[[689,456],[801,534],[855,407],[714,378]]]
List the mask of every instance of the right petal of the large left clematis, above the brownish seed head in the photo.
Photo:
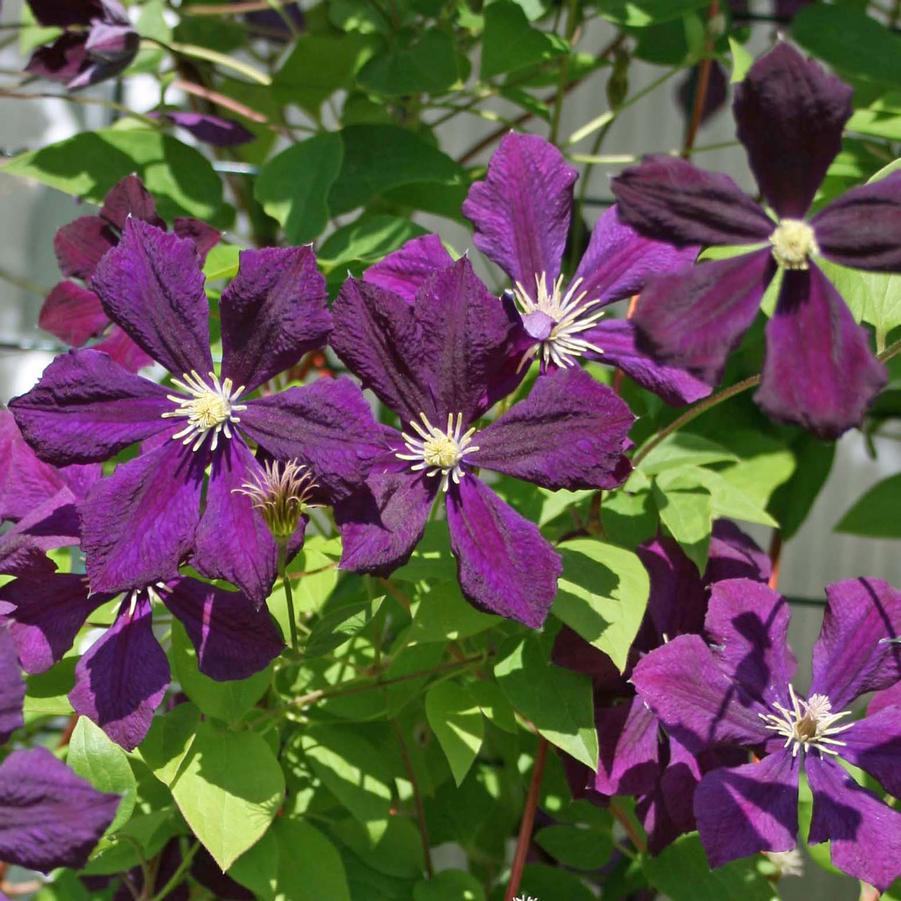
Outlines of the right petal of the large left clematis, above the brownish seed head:
[[309,466],[333,498],[358,488],[384,451],[382,431],[350,379],[320,379],[249,401],[241,428],[279,460]]

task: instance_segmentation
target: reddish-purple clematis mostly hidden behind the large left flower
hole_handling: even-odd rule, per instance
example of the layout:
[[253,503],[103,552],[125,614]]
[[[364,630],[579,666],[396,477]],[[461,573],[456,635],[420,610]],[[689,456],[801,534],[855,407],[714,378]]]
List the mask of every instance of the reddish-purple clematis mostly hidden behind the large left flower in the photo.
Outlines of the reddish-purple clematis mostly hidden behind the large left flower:
[[[103,340],[94,348],[105,351],[130,372],[137,372],[153,360],[119,326],[110,324],[100,298],[90,287],[97,265],[119,243],[129,216],[165,228],[153,197],[137,175],[126,176],[110,190],[97,216],[81,216],[56,233],[53,247],[65,279],[47,295],[38,325],[74,347],[102,335]],[[201,260],[219,242],[219,232],[198,219],[176,218],[172,230],[194,241]]]

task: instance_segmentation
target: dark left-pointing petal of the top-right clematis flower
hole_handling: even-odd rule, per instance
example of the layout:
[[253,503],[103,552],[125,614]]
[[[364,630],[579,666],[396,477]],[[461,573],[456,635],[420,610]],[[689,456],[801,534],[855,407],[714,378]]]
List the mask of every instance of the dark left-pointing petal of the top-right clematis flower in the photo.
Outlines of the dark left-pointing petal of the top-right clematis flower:
[[756,244],[776,224],[728,175],[654,154],[611,182],[623,222],[680,247]]

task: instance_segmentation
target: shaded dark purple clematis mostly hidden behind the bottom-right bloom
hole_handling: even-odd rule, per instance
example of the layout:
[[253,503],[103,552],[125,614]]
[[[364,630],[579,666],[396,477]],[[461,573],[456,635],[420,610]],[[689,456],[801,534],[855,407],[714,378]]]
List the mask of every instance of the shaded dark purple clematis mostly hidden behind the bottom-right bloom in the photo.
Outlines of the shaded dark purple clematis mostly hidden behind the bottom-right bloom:
[[733,749],[692,753],[677,739],[661,736],[660,721],[630,682],[643,656],[677,635],[700,633],[709,587],[722,579],[746,577],[765,582],[766,554],[727,520],[714,525],[704,576],[676,542],[658,538],[638,548],[648,571],[648,608],[623,674],[610,658],[564,628],[554,645],[553,661],[583,672],[594,683],[595,722],[600,759],[597,772],[564,758],[573,793],[601,802],[613,795],[636,796],[635,811],[648,836],[648,849],[659,854],[678,836],[696,828],[692,800],[704,773],[740,762]]

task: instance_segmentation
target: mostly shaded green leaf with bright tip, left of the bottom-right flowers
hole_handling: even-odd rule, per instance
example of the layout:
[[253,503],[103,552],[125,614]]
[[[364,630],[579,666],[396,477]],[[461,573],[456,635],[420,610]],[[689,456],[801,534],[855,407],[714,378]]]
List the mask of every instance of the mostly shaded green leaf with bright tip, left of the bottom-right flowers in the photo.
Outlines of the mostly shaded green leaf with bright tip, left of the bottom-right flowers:
[[595,770],[598,735],[591,679],[548,664],[548,656],[545,644],[530,636],[498,661],[495,678],[510,703],[552,745]]

